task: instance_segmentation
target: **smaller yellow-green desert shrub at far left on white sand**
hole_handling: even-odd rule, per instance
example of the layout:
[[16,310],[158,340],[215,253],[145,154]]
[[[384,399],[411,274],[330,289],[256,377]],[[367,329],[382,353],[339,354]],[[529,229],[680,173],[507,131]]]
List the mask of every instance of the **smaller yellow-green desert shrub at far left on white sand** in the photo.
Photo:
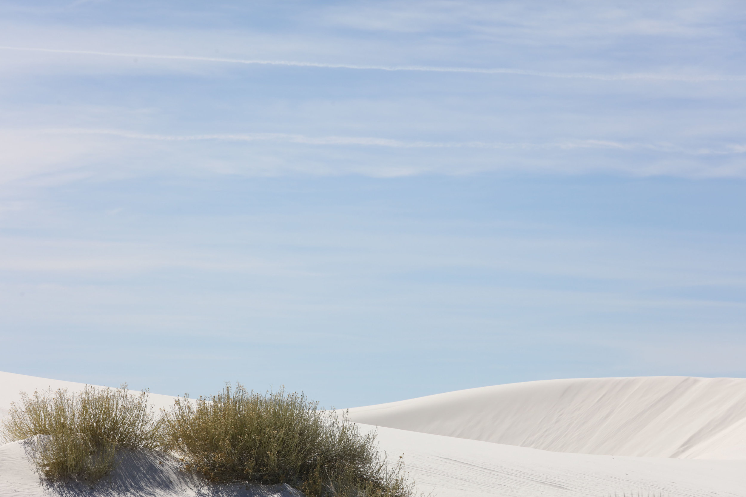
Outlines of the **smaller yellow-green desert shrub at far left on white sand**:
[[87,386],[78,393],[51,389],[21,394],[0,426],[7,442],[34,437],[31,458],[51,481],[94,483],[116,467],[120,449],[154,449],[161,422],[148,393]]

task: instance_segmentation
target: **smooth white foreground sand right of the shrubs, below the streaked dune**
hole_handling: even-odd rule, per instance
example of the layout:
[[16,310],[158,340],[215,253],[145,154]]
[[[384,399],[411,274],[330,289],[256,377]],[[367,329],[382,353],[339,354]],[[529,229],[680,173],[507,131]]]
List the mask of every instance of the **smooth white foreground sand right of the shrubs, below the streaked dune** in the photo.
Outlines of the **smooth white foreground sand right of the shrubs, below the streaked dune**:
[[570,454],[395,428],[377,433],[389,457],[404,454],[419,490],[435,497],[746,496],[746,460]]

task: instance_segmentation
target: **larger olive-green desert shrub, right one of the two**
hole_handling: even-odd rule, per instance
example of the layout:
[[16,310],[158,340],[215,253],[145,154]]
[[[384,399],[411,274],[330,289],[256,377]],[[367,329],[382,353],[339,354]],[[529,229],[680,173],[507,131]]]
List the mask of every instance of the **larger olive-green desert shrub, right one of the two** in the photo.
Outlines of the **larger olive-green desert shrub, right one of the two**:
[[379,456],[374,434],[317,407],[282,389],[263,395],[227,385],[209,398],[178,399],[165,417],[164,446],[217,483],[287,483],[308,497],[413,493],[401,463]]

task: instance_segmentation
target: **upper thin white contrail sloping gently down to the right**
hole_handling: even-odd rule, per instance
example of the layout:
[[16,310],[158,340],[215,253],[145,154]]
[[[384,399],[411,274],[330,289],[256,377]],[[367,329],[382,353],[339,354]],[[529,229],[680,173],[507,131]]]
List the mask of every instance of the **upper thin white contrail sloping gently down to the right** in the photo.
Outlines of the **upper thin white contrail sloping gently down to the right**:
[[154,54],[123,54],[119,52],[93,51],[93,50],[63,50],[57,48],[30,48],[30,47],[12,47],[0,46],[0,50],[14,51],[38,51],[52,54],[78,54],[78,55],[99,55],[104,57],[136,57],[140,59],[157,59],[157,60],[192,60],[198,62],[211,63],[229,63],[229,64],[246,64],[246,65],[263,65],[263,66],[292,66],[292,67],[314,67],[323,69],[356,69],[369,71],[415,71],[415,72],[460,72],[483,75],[521,75],[536,77],[559,77],[564,79],[591,79],[591,80],[667,80],[667,81],[742,81],[746,76],[742,75],[676,75],[676,74],[659,74],[648,72],[633,72],[604,75],[592,72],[544,72],[532,71],[528,69],[512,68],[478,68],[478,67],[442,67],[442,66],[374,66],[358,64],[332,64],[319,62],[303,62],[298,60],[262,60],[262,59],[231,59],[224,57],[195,57],[191,55],[154,55]]

